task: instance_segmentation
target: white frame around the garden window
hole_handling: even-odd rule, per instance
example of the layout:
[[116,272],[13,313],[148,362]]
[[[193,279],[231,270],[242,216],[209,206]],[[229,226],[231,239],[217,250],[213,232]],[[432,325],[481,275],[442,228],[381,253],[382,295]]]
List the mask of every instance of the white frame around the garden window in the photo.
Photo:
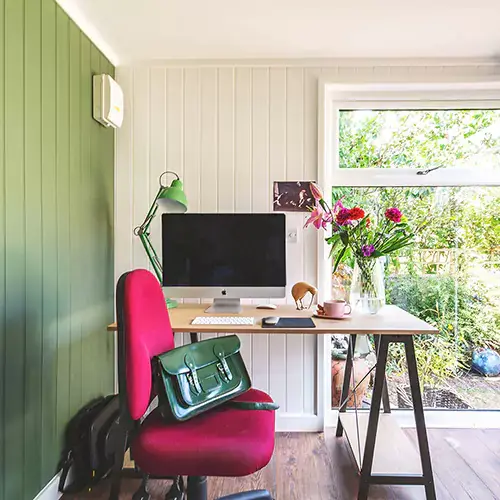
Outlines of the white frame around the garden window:
[[[412,168],[339,166],[339,112],[356,109],[500,109],[500,81],[448,83],[333,83],[320,80],[318,91],[318,181],[325,193],[332,187],[500,186],[500,172],[472,168],[440,168],[417,175]],[[452,175],[450,175],[452,173]],[[320,300],[331,297],[332,262],[323,235],[318,234],[318,289]],[[318,339],[318,413],[324,426],[336,424],[338,412],[329,408],[331,395],[330,338]],[[444,426],[450,417],[442,414]],[[467,427],[471,415],[465,416]],[[472,412],[480,413],[480,412]],[[497,414],[492,413],[491,425]],[[479,418],[479,417],[478,417]],[[483,415],[480,417],[484,419]],[[437,416],[437,421],[440,417]],[[460,419],[459,419],[460,420]],[[488,419],[489,421],[490,419]],[[460,426],[461,423],[456,421]],[[481,423],[477,423],[481,426]],[[439,426],[439,425],[436,425]]]

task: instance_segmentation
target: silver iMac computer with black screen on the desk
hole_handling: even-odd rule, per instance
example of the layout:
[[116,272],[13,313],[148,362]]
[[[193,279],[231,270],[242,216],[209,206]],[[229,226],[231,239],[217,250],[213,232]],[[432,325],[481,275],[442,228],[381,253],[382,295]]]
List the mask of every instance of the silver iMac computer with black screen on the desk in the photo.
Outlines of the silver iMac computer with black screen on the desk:
[[207,312],[241,312],[242,298],[285,297],[284,214],[163,214],[167,297],[213,298]]

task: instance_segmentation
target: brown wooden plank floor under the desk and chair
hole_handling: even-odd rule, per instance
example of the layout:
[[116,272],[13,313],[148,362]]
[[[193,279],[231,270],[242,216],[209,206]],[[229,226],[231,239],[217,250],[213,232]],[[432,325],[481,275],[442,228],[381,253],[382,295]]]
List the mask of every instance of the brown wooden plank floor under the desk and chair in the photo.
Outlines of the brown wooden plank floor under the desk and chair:
[[[416,445],[414,429],[405,432]],[[500,500],[500,430],[430,429],[429,442],[437,497],[440,500]],[[121,500],[130,499],[138,481],[125,480]],[[163,500],[167,481],[151,481],[153,500]],[[276,437],[271,463],[246,478],[209,479],[209,500],[251,489],[267,488],[276,500],[351,500],[358,477],[345,439],[325,434],[290,433]],[[107,500],[108,484],[69,499]],[[370,498],[424,499],[420,486],[377,486]]]

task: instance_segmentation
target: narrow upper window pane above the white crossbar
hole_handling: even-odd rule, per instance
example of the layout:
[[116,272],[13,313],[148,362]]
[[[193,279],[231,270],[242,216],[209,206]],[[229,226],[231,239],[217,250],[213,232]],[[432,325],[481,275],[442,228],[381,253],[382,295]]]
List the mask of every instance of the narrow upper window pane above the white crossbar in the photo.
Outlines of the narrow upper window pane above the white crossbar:
[[500,167],[500,110],[340,111],[340,168]]

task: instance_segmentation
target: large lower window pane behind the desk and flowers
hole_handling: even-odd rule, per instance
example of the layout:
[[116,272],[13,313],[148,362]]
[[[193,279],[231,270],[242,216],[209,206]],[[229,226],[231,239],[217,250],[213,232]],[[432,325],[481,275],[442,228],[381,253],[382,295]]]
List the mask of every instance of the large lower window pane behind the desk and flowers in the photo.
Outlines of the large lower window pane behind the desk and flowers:
[[[471,361],[483,348],[500,352],[500,188],[335,188],[332,201],[339,198],[374,219],[398,207],[414,228],[416,243],[386,259],[386,300],[439,329],[415,338],[427,407],[499,409],[500,382]],[[344,277],[352,259],[345,264]],[[335,294],[341,281],[334,276]],[[390,352],[388,378],[391,404],[404,407],[400,347]]]

